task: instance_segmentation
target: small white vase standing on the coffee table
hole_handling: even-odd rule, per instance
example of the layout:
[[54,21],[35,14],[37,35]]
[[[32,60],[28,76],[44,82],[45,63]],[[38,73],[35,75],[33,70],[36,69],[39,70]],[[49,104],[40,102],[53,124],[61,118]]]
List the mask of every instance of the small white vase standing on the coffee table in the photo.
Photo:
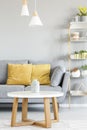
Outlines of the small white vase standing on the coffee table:
[[31,83],[31,91],[38,93],[40,91],[40,83],[37,79],[33,80]]

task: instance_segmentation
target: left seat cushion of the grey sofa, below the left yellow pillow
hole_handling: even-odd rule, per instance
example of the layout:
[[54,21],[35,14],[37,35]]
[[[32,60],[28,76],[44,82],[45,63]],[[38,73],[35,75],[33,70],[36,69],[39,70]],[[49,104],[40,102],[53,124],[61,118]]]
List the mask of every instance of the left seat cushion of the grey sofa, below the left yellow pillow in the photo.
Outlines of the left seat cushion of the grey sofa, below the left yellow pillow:
[[24,85],[0,85],[0,98],[10,98],[8,92],[24,91]]

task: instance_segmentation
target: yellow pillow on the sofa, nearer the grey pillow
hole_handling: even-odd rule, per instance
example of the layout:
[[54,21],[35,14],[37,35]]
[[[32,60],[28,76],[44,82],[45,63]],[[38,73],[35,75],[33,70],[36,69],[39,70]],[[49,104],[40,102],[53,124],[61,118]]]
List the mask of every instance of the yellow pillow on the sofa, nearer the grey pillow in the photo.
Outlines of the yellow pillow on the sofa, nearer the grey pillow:
[[50,84],[50,64],[32,65],[31,80],[34,79],[40,84]]

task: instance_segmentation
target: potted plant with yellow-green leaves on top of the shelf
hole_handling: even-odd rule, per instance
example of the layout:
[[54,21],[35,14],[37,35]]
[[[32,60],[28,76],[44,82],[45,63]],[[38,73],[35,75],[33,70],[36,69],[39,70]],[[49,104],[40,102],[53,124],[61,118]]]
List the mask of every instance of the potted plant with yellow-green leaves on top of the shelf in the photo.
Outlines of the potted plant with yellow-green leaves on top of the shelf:
[[79,13],[77,14],[80,16],[80,21],[87,22],[87,8],[86,7],[79,7]]

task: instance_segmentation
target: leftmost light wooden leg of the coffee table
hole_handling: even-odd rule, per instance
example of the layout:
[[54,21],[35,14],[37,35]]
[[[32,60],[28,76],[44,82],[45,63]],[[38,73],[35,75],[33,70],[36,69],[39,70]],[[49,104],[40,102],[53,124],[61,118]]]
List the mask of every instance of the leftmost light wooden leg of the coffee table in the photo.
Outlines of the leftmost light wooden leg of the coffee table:
[[12,107],[11,126],[15,126],[16,124],[17,108],[18,108],[18,98],[14,98],[13,107]]

